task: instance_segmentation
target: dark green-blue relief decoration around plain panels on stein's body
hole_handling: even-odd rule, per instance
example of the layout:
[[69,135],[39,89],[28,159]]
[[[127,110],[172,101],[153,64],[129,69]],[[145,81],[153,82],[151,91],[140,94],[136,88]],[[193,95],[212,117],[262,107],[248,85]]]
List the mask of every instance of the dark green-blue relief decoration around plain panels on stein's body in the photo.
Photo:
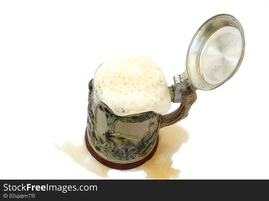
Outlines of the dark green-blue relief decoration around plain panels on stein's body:
[[[93,90],[92,81],[90,81],[87,120],[90,145],[100,156],[112,162],[134,162],[145,157],[157,141],[161,115],[150,111],[124,117],[117,116],[103,102],[94,102]],[[98,121],[100,121],[100,118],[97,118],[98,110],[105,114],[104,131],[97,129]],[[145,121],[148,121],[149,125],[147,132],[142,133],[141,136],[127,136],[114,131],[118,123],[136,124]]]

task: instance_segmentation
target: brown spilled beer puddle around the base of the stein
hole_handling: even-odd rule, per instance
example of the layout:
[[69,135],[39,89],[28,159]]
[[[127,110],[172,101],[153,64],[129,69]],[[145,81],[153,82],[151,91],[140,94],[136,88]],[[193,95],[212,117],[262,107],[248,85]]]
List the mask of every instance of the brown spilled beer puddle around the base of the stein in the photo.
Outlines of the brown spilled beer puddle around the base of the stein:
[[[189,133],[178,124],[160,129],[159,146],[154,156],[142,166],[125,171],[143,170],[147,175],[146,179],[169,179],[178,178],[180,170],[172,167],[173,155],[179,151],[183,143],[189,139]],[[55,145],[55,148],[67,154],[79,165],[88,171],[100,176],[108,177],[108,171],[111,169],[97,162],[88,152],[85,143],[76,146],[68,141],[64,145]]]

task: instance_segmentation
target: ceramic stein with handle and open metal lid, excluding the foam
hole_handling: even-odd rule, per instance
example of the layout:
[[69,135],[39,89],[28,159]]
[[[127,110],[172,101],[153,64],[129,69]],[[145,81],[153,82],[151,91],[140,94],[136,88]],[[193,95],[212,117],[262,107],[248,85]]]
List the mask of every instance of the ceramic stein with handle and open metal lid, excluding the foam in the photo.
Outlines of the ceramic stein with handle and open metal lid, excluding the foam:
[[106,102],[98,99],[94,80],[90,80],[85,131],[88,151],[113,169],[142,165],[157,150],[159,129],[187,117],[197,99],[197,89],[212,90],[229,80],[241,65],[244,52],[243,28],[235,17],[219,14],[208,19],[191,40],[186,70],[175,75],[174,84],[168,87],[171,102],[181,104],[164,115],[154,111],[115,114]]

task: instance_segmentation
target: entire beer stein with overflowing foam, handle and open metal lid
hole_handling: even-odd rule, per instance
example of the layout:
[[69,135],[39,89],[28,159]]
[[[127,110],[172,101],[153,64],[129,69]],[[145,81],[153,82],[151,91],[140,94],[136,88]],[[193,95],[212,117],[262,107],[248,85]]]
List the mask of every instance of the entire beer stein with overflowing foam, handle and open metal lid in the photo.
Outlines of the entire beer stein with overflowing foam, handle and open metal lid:
[[[207,20],[193,36],[186,71],[168,87],[159,65],[140,54],[120,54],[103,62],[89,82],[85,143],[92,156],[114,169],[148,161],[158,147],[160,128],[187,117],[195,90],[211,90],[229,80],[245,51],[239,21],[228,14]],[[171,102],[177,110],[166,114]]]

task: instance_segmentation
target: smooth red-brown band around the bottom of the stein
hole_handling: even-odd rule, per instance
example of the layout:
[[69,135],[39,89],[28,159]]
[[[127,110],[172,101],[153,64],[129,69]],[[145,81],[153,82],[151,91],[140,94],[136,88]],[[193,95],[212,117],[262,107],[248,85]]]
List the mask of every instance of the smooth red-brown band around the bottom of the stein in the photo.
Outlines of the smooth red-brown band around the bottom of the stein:
[[147,162],[156,152],[157,147],[158,147],[158,143],[159,143],[159,136],[157,137],[157,142],[155,144],[155,146],[153,147],[153,150],[145,157],[142,158],[139,161],[136,162],[132,162],[132,163],[115,163],[115,162],[111,162],[108,160],[105,160],[104,158],[102,158],[101,156],[99,156],[94,149],[91,147],[90,143],[89,143],[89,139],[88,139],[88,135],[87,135],[87,128],[85,130],[85,143],[86,143],[86,147],[88,149],[88,151],[90,152],[90,154],[100,163],[102,163],[105,166],[108,166],[110,168],[113,169],[120,169],[120,170],[124,170],[124,169],[133,169],[135,167],[141,166],[142,164],[144,164],[145,162]]

